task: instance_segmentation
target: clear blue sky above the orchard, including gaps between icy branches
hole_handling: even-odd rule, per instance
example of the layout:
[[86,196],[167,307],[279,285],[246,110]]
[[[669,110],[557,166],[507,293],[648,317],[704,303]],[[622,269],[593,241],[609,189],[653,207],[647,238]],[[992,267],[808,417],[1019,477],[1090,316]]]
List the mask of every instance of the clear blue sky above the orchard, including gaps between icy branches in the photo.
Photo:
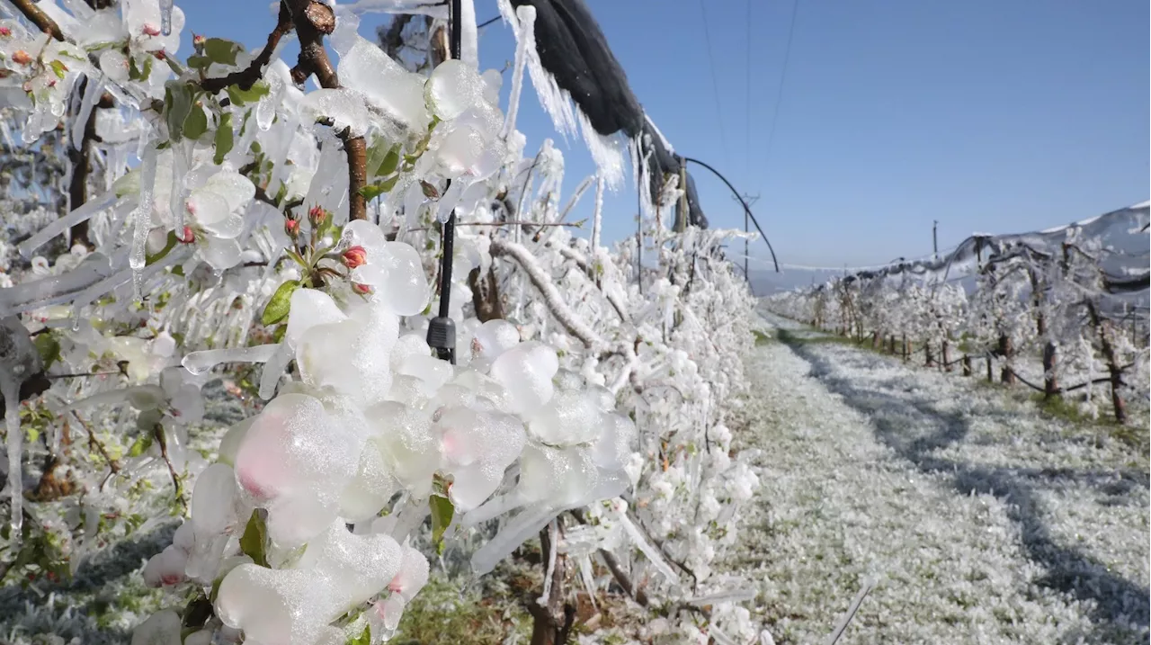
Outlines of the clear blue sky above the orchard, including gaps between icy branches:
[[[761,195],[753,210],[782,261],[879,264],[929,253],[932,220],[945,249],[973,232],[1046,228],[1151,198],[1145,0],[799,0],[770,150],[793,0],[750,0],[750,22],[747,0],[587,2],[677,151]],[[475,3],[481,21],[497,14],[494,0]],[[177,5],[185,35],[250,47],[274,22],[265,0]],[[386,20],[367,16],[361,35]],[[510,31],[486,29],[480,52],[485,68],[503,67]],[[565,191],[594,170],[531,90],[519,129],[529,151],[557,139]],[[712,226],[742,227],[726,188],[694,175]],[[588,211],[589,200],[577,217]],[[605,236],[632,232],[634,213],[631,187],[609,198]]]

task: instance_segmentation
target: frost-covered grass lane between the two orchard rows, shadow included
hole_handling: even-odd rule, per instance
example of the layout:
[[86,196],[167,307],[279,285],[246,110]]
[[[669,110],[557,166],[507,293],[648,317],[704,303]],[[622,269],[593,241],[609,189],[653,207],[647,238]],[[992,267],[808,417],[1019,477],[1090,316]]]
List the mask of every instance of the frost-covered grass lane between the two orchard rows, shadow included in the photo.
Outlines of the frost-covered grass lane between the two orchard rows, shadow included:
[[780,645],[1151,643],[1151,463],[971,380],[777,319],[748,369],[757,516],[733,568]]

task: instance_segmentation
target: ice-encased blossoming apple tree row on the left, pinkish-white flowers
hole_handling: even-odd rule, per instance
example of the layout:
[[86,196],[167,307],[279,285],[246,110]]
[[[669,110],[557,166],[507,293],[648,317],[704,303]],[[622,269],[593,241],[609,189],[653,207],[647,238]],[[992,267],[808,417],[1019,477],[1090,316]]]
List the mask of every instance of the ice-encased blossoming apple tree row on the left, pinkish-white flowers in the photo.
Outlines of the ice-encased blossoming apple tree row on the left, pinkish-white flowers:
[[[746,599],[711,571],[756,487],[731,430],[753,325],[718,251],[733,234],[672,235],[656,211],[642,242],[601,244],[619,168],[564,198],[561,151],[525,158],[514,127],[531,8],[509,14],[524,43],[505,114],[497,71],[411,71],[340,5],[280,3],[267,52],[197,36],[186,56],[170,2],[38,6],[58,35],[0,25],[3,83],[31,92],[5,127],[63,123],[93,164],[84,200],[0,246],[0,313],[24,314],[14,342],[45,370],[82,375],[25,405],[45,447],[7,432],[10,488],[84,427],[93,454],[68,472],[85,493],[60,531],[73,569],[183,516],[143,570],[174,593],[135,643],[380,642],[436,575],[429,549],[482,575],[541,531],[549,571],[566,560],[593,595],[610,554],[658,607]],[[285,62],[291,32],[318,40]],[[585,195],[590,240],[569,218]],[[426,341],[445,264],[455,364]],[[221,390],[238,410],[219,434]],[[756,636],[716,616],[668,620]]]

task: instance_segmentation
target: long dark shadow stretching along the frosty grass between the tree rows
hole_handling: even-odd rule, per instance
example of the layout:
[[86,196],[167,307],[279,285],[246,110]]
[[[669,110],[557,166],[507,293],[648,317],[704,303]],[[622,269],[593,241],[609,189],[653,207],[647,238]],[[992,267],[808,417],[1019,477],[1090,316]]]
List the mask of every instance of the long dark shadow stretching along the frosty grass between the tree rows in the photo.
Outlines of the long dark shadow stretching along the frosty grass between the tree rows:
[[[836,364],[859,358],[838,355],[832,363],[831,358],[817,351],[820,343],[798,341],[786,329],[779,331],[779,340],[811,365],[811,375],[830,392],[867,415],[875,426],[876,437],[921,472],[944,477],[959,494],[975,491],[1003,501],[1008,517],[1020,528],[1022,547],[1028,557],[1047,571],[1038,580],[1039,584],[1092,604],[1091,620],[1097,629],[1089,642],[1103,643],[1113,638],[1131,642],[1139,637],[1139,630],[1151,627],[1151,591],[1108,571],[1103,562],[1081,549],[1058,544],[1044,523],[1043,509],[1036,496],[1037,488],[1057,485],[1059,480],[1110,486],[1105,491],[1118,494],[1125,487],[1151,485],[1146,473],[1120,473],[1116,487],[1113,476],[1107,477],[1111,473],[1098,471],[990,468],[938,457],[935,455],[937,450],[967,439],[970,424],[960,413],[939,410],[928,393],[915,385],[914,374],[898,386],[899,379],[889,379],[866,387],[839,375],[836,370]],[[869,365],[859,361],[855,366],[866,370]],[[884,392],[889,388],[895,389],[899,395]],[[909,428],[922,428],[922,432],[909,435]]]

